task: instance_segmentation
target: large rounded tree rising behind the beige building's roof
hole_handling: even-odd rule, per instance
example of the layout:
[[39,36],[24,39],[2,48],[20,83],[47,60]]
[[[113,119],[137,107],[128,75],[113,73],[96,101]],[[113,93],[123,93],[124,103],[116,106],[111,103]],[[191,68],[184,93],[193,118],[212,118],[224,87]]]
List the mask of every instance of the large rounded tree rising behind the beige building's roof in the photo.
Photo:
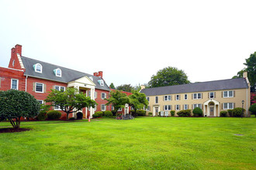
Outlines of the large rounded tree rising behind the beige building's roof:
[[158,70],[157,75],[151,76],[151,80],[148,82],[148,85],[150,87],[165,87],[185,83],[190,82],[184,71],[168,66],[163,70]]

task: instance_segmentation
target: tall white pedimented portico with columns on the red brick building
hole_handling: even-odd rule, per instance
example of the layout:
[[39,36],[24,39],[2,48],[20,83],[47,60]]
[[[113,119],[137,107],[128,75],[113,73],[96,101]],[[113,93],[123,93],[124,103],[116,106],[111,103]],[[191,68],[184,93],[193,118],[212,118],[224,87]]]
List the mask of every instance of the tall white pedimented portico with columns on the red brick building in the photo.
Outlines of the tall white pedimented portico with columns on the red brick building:
[[[95,100],[95,83],[93,83],[88,76],[82,76],[78,80],[68,82],[67,87],[77,88],[79,93],[86,93],[86,96],[89,96],[92,100]],[[84,118],[92,118],[92,114],[95,113],[95,109],[92,107],[85,107],[80,111],[83,113]],[[73,113],[72,116],[74,117],[75,114]]]

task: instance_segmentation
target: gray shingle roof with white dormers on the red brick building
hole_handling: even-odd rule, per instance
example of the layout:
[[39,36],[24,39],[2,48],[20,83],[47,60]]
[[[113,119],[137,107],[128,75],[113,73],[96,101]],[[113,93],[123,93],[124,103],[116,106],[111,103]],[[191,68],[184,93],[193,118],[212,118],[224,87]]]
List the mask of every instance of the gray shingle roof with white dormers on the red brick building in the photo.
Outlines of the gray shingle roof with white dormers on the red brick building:
[[[26,56],[21,56],[21,59],[24,67],[26,68],[26,72],[24,73],[25,76],[33,76],[33,77],[38,77],[42,79],[63,82],[63,83],[68,83],[74,80],[78,80],[83,76],[88,76],[88,77],[92,76],[93,82],[96,84],[95,86],[96,89],[110,90],[109,86],[107,86],[105,81],[104,81],[104,86],[100,86],[98,80],[103,80],[103,79],[99,76],[93,76],[92,74],[82,73],[76,70],[67,69],[63,66],[57,66],[57,65],[46,63],[37,59],[31,59]],[[36,63],[40,63],[43,66],[42,73],[35,72],[33,65]],[[61,69],[61,77],[55,76],[54,74],[54,70],[57,68]]]

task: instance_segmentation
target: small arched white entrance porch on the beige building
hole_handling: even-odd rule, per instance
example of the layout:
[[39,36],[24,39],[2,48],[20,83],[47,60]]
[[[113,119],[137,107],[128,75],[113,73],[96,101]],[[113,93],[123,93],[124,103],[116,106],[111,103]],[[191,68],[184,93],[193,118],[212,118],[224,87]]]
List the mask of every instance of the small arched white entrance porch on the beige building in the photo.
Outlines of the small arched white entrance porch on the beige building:
[[220,102],[209,99],[203,104],[205,113],[207,117],[220,117]]

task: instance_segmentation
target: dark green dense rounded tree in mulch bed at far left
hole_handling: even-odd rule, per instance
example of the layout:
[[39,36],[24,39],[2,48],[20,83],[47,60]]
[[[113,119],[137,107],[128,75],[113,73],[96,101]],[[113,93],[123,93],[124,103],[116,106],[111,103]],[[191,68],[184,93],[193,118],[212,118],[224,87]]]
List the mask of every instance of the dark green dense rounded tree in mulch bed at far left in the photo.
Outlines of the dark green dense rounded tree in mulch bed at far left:
[[21,117],[35,117],[40,104],[25,91],[7,90],[0,91],[0,108],[0,120],[9,120],[13,128],[19,128]]

